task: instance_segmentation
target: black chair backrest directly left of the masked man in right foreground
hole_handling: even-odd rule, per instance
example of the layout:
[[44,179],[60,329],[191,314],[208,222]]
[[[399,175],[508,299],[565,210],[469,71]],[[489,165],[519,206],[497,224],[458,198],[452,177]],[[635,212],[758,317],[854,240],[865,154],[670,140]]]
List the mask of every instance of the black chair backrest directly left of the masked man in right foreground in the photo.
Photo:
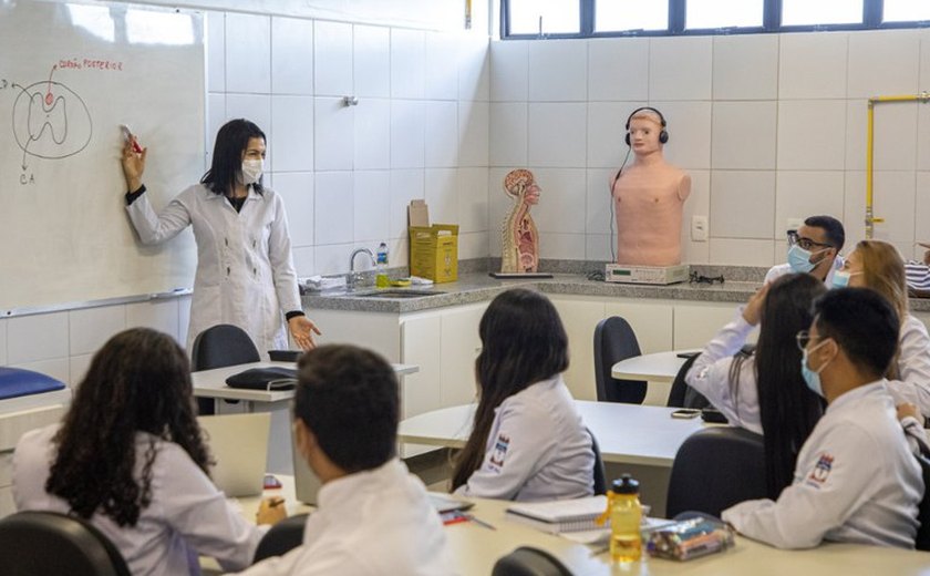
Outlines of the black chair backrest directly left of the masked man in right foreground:
[[696,511],[719,517],[734,504],[767,495],[762,436],[742,428],[707,428],[675,454],[665,515]]

